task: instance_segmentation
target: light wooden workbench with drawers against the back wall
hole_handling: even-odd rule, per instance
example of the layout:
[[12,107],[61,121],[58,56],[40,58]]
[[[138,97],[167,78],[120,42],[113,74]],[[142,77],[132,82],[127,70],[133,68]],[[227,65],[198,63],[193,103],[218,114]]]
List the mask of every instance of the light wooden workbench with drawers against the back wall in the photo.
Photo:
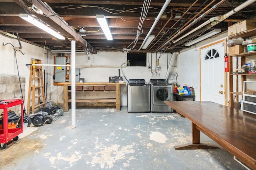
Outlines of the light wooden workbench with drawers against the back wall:
[[[97,94],[98,92],[114,92],[114,97],[106,98],[106,96],[98,96],[97,98],[84,98],[84,99],[76,99],[76,102],[115,102],[116,103],[116,111],[120,111],[120,84],[123,83],[108,83],[108,82],[86,82],[86,83],[76,83],[76,93],[79,92],[91,92],[90,94]],[[69,93],[71,90],[68,90],[71,88],[71,83],[63,84],[64,86],[64,111],[68,111],[68,102],[71,102],[71,96]],[[111,89],[111,86],[114,86],[114,88]],[[82,89],[82,87],[84,89]],[[86,88],[92,88],[92,89],[85,89]],[[108,89],[106,87],[109,87]],[[97,88],[97,89],[96,89]],[[103,89],[102,89],[103,88]]]

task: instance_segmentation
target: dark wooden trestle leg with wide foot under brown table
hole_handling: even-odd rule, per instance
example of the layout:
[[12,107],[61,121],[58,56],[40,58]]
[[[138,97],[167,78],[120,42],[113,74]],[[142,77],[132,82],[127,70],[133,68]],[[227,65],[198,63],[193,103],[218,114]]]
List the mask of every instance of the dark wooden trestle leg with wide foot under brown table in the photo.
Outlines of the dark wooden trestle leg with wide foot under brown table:
[[192,122],[192,144],[188,143],[184,145],[174,146],[174,149],[219,149],[218,147],[215,147],[213,145],[206,145],[200,143],[200,131],[197,127],[198,126]]

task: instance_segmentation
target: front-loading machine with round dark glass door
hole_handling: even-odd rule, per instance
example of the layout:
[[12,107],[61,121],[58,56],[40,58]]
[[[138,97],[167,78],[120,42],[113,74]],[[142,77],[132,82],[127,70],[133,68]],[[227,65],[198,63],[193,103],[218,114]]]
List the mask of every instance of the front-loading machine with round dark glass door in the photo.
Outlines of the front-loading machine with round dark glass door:
[[172,84],[168,84],[165,79],[150,79],[149,84],[151,92],[151,112],[173,112],[172,107],[164,103],[164,101],[173,101]]

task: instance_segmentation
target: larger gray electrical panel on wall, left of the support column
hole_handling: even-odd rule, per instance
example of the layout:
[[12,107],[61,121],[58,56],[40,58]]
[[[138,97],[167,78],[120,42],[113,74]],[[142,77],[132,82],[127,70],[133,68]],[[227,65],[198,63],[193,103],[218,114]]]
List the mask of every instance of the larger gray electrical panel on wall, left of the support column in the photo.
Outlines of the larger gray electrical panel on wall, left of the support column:
[[[56,57],[55,63],[66,65],[66,57]],[[66,66],[55,66],[55,82],[66,82]]]

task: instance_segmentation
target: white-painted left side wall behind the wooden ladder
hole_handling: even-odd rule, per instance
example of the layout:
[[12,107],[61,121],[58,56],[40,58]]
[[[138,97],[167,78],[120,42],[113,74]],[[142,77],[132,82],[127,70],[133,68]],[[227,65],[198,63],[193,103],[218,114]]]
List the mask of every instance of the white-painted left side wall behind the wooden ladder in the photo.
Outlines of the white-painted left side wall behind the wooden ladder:
[[[9,38],[8,36],[0,34],[0,75],[18,75],[18,70],[16,66],[16,60],[14,57],[14,47],[20,47],[18,43],[18,39]],[[11,43],[3,46],[3,43]],[[16,57],[17,57],[17,63],[18,63],[18,69],[21,77],[25,77],[26,83],[25,83],[25,92],[23,93],[24,98],[24,104],[25,108],[27,107],[27,99],[28,99],[28,85],[29,85],[29,78],[30,78],[30,66],[26,66],[26,64],[30,64],[31,58],[34,59],[40,59],[42,60],[42,63],[46,63],[47,61],[47,55],[44,53],[47,53],[47,50],[44,50],[41,47],[31,45],[29,43],[21,41],[22,49],[19,49],[24,53],[20,51],[16,51]],[[53,63],[52,57],[49,55],[48,57],[48,63]],[[44,70],[46,72],[46,66],[42,67],[43,74]],[[52,68],[48,67],[48,77],[52,77],[53,70]],[[52,86],[53,82],[52,79],[48,79],[48,92],[51,92],[54,90],[54,87]],[[11,98],[11,97],[10,97]],[[5,98],[2,100],[10,99]],[[48,95],[48,101],[51,100],[51,95]]]

